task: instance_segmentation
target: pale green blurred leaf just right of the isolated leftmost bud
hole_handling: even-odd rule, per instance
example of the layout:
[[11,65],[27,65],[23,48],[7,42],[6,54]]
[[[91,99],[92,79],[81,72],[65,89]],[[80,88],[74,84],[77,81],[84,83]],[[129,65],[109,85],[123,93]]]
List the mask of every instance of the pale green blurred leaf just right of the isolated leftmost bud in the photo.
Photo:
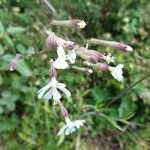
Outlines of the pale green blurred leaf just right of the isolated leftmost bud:
[[16,70],[17,70],[22,76],[25,76],[25,77],[31,76],[30,69],[28,68],[28,66],[26,65],[26,63],[25,63],[25,61],[24,61],[23,59],[18,60]]

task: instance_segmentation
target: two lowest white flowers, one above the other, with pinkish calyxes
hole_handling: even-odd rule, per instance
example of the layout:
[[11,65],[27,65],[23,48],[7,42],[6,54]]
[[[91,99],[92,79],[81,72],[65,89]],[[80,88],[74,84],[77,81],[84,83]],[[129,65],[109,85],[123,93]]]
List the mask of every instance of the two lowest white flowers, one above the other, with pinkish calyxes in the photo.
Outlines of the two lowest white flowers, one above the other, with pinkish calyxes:
[[59,83],[56,79],[56,69],[54,68],[53,60],[50,61],[51,68],[50,68],[50,76],[51,81],[44,86],[42,89],[38,91],[38,98],[44,98],[46,101],[53,99],[54,104],[58,104],[60,106],[61,114],[65,119],[66,125],[58,132],[58,135],[69,135],[73,133],[76,129],[83,126],[85,120],[76,120],[71,121],[69,119],[68,111],[61,103],[61,94],[58,90],[62,91],[66,97],[70,97],[71,93],[68,89],[66,89],[66,85],[64,83]]

